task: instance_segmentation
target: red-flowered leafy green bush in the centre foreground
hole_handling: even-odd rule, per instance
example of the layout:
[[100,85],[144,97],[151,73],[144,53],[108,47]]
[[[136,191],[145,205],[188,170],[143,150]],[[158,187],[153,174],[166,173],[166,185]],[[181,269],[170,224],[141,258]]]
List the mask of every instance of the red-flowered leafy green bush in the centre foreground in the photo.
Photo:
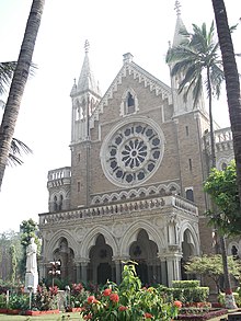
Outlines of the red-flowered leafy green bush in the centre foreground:
[[87,298],[82,303],[83,320],[170,321],[177,316],[182,303],[168,302],[157,288],[141,288],[135,264],[125,264],[119,286],[108,282],[100,295]]

